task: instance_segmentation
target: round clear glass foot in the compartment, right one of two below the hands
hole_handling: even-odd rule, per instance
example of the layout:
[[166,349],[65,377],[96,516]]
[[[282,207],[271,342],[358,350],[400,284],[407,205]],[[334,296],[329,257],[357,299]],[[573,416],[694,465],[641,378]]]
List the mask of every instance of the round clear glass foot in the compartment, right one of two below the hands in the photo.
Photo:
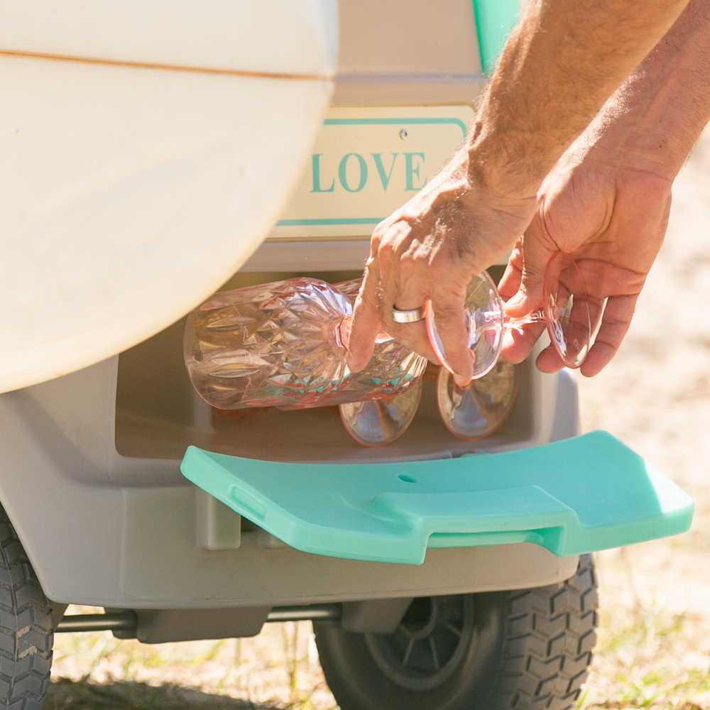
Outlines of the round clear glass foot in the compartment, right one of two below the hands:
[[483,439],[508,418],[518,396],[517,365],[498,360],[483,377],[465,387],[454,383],[447,368],[439,368],[437,405],[449,432],[465,441]]

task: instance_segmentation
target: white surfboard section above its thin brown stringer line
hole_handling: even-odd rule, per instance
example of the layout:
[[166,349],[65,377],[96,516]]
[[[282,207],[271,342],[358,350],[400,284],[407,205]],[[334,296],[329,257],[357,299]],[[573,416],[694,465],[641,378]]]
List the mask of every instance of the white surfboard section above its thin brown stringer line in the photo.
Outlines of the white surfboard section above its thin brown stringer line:
[[334,0],[0,0],[0,50],[332,75]]

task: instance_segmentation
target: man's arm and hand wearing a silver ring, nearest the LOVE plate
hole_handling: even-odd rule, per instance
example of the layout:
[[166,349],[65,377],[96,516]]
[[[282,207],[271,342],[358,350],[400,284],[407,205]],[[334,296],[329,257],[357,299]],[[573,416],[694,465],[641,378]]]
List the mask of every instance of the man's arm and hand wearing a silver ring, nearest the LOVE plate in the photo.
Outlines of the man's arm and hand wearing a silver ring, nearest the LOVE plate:
[[469,138],[373,232],[349,364],[363,368],[384,327],[433,357],[424,325],[391,308],[431,300],[459,381],[471,376],[463,300],[471,276],[508,251],[535,214],[542,178],[643,60],[687,0],[533,0],[503,50]]

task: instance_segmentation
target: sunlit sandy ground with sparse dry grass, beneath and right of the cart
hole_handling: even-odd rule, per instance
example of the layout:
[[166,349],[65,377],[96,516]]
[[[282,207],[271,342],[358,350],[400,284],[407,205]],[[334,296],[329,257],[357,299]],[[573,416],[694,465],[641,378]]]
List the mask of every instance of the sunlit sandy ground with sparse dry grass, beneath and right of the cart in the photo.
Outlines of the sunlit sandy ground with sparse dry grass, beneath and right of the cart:
[[[685,535],[598,555],[601,628],[584,709],[710,710],[709,297],[706,136],[677,179],[667,239],[621,351],[596,378],[579,378],[584,430],[613,433],[697,501]],[[50,707],[334,707],[305,623],[154,648],[64,635],[55,652],[55,679],[73,683],[54,685]],[[104,695],[87,696],[81,678]]]

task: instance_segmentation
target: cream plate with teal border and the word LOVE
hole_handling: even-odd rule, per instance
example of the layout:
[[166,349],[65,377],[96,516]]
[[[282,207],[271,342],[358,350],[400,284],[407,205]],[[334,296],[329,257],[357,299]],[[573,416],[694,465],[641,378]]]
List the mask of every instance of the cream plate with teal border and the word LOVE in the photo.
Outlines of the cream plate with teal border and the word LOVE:
[[368,237],[466,137],[468,106],[329,109],[269,239]]

